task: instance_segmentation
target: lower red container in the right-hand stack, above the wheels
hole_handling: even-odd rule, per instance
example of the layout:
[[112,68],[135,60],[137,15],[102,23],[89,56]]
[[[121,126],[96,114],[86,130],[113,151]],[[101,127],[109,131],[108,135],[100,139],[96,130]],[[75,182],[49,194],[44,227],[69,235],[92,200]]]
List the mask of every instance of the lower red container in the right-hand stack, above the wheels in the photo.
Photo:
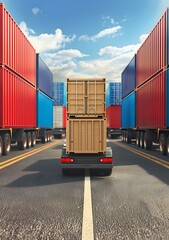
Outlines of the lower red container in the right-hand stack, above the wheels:
[[165,127],[166,75],[160,73],[136,92],[136,126],[139,128]]

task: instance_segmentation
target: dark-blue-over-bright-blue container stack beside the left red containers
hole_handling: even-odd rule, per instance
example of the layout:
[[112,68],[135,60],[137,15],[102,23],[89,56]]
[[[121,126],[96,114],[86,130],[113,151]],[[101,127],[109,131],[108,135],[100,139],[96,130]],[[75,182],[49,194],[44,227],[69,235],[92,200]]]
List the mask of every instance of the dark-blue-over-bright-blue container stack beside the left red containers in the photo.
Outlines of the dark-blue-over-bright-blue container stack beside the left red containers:
[[39,54],[36,54],[36,84],[37,84],[37,127],[53,127],[53,74]]

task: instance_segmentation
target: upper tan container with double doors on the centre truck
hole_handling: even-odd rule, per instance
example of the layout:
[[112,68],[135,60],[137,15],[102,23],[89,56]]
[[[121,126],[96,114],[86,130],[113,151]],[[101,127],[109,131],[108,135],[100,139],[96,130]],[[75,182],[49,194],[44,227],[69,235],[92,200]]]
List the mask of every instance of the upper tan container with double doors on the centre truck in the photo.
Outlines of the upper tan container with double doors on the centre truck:
[[67,79],[67,116],[105,116],[105,79]]

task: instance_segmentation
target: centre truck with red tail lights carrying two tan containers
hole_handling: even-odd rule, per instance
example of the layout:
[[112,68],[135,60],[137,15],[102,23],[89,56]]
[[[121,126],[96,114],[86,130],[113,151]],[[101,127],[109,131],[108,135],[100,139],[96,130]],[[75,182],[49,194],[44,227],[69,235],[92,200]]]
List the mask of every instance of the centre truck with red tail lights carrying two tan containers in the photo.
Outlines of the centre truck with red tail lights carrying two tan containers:
[[67,79],[66,145],[62,149],[62,173],[71,169],[95,169],[110,175],[112,149],[106,146],[105,79]]

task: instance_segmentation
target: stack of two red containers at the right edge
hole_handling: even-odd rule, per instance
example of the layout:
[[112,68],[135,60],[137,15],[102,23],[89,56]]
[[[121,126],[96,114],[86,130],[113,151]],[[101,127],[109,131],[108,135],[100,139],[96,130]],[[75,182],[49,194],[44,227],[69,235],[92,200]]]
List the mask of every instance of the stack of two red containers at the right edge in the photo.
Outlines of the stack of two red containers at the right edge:
[[136,125],[138,128],[169,127],[168,47],[169,10],[163,14],[137,52]]

